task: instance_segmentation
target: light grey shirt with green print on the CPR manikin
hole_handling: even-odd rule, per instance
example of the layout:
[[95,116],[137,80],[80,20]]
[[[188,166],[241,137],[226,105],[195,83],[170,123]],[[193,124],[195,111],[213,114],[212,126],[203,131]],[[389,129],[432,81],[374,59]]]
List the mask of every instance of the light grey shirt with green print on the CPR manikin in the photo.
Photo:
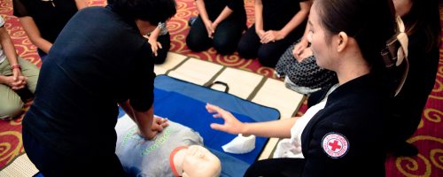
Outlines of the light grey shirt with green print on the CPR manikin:
[[116,131],[115,153],[130,176],[174,176],[169,165],[172,150],[183,145],[203,145],[197,132],[170,120],[169,126],[152,141],[138,135],[136,124],[128,117],[119,120]]

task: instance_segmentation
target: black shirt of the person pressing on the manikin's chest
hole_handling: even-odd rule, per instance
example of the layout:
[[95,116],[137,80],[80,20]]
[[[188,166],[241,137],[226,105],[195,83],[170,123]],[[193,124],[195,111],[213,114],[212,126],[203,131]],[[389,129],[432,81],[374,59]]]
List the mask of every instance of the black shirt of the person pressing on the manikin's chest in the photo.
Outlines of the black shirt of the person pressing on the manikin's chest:
[[114,153],[117,103],[153,102],[153,59],[134,19],[104,7],[76,13],[43,62],[23,119],[37,140],[66,155]]

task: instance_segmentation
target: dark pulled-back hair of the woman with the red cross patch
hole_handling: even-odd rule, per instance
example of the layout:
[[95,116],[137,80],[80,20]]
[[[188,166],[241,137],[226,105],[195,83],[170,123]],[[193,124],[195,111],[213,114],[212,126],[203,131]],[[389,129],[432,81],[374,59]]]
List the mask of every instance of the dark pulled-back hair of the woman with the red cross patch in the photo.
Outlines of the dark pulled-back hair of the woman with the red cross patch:
[[315,0],[315,4],[327,38],[345,32],[354,37],[373,71],[383,67],[380,51],[396,29],[392,0]]

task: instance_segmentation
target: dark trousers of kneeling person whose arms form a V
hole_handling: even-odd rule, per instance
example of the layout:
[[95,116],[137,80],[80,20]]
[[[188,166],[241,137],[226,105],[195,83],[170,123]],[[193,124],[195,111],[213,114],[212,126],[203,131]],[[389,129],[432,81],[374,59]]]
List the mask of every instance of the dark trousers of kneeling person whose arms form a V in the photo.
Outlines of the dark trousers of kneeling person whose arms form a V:
[[186,37],[186,45],[192,51],[203,51],[214,46],[214,49],[222,55],[231,54],[237,50],[237,43],[245,30],[245,20],[229,18],[221,21],[214,32],[214,38],[207,35],[205,24],[198,16],[190,27],[190,33]]

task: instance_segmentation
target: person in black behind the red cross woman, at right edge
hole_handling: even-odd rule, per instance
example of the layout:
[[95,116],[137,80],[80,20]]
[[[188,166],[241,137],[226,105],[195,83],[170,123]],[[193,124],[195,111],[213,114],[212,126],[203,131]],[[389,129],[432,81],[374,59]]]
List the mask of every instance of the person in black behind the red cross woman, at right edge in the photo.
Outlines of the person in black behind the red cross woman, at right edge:
[[406,140],[416,132],[436,76],[441,73],[439,2],[393,0],[393,4],[408,35],[409,70],[399,95],[392,98],[390,120],[396,128],[391,132],[390,152],[395,156],[415,156],[418,149]]

